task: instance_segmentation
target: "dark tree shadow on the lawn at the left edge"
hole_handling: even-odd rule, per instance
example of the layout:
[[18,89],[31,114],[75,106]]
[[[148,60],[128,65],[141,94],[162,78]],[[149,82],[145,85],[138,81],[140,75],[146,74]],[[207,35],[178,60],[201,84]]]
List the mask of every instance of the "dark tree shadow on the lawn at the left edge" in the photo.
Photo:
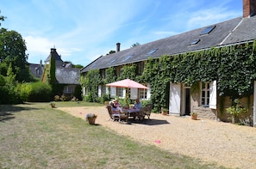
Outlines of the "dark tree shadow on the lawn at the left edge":
[[15,113],[22,111],[38,110],[34,107],[23,107],[16,105],[0,105],[0,122],[15,118]]

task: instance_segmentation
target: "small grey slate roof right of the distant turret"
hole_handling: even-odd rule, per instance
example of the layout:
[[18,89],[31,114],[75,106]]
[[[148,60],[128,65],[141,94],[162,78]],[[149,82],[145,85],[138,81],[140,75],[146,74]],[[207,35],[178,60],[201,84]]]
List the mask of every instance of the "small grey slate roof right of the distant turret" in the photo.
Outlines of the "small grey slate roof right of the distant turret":
[[80,72],[78,68],[56,67],[56,80],[59,84],[79,84]]

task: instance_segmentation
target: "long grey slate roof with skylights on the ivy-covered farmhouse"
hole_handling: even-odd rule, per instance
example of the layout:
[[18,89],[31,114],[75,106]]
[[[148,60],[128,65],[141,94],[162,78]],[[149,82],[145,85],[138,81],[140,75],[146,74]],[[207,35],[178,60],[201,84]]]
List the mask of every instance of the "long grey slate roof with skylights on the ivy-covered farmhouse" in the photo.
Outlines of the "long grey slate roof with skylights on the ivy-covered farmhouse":
[[[214,27],[210,33],[201,34],[208,27]],[[105,69],[127,63],[135,63],[147,60],[148,57],[160,57],[162,55],[174,55],[187,51],[209,49],[213,46],[229,45],[256,39],[256,16],[251,18],[234,18],[198,28],[186,33],[180,33],[165,39],[159,39],[144,45],[118,51],[116,53],[98,57],[95,61],[81,69],[81,73],[91,69]],[[194,40],[197,44],[190,45]],[[150,51],[155,50],[149,54]]]

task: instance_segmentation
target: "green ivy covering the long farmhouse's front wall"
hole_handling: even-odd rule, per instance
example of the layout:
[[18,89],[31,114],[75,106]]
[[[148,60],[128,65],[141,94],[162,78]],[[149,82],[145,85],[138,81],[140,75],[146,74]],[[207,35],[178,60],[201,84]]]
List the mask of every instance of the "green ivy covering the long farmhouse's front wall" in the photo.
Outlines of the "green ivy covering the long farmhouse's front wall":
[[[125,78],[148,82],[155,111],[159,111],[161,106],[168,107],[170,82],[193,86],[197,81],[216,80],[220,95],[240,98],[253,94],[253,81],[256,78],[255,51],[254,40],[250,44],[213,47],[205,51],[191,51],[159,58],[149,57],[143,74],[139,76],[136,76],[136,64],[124,65],[119,77],[116,76],[115,68],[106,69],[104,80],[99,70],[91,70],[85,78],[91,81],[86,83],[86,88],[89,87],[91,94],[97,94],[97,86],[102,83]],[[91,75],[91,72],[95,75]]]

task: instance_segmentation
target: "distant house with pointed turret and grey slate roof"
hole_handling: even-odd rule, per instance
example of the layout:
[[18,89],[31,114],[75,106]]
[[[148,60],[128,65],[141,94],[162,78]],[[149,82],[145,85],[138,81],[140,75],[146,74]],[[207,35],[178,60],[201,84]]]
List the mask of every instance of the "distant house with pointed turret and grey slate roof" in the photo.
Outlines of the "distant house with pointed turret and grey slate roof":
[[[78,68],[73,68],[72,63],[63,62],[61,57],[55,48],[51,49],[50,55],[45,60],[45,68],[49,68],[51,58],[55,60],[55,78],[56,84],[63,86],[61,93],[56,95],[62,95],[73,97],[75,90],[80,86],[79,76],[80,72]],[[42,81],[47,81],[47,72],[44,72]],[[77,96],[78,97],[78,96]]]

